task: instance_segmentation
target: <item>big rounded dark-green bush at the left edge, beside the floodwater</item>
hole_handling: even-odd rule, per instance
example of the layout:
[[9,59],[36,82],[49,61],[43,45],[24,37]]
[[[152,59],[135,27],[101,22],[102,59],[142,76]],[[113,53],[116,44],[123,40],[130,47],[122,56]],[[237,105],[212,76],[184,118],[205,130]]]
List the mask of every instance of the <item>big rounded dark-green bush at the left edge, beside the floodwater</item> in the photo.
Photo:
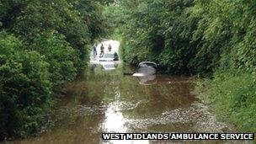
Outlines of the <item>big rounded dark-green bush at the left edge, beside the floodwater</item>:
[[22,46],[13,35],[0,34],[1,139],[35,132],[52,101],[49,63],[36,51],[20,51]]

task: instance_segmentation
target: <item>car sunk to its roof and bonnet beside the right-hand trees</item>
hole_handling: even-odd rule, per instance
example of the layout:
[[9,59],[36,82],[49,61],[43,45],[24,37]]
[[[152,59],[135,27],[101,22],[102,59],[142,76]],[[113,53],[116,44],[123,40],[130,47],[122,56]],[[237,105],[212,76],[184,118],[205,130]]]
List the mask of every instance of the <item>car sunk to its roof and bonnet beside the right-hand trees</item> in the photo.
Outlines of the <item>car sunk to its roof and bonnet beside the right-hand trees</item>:
[[157,64],[152,61],[143,61],[139,64],[137,72],[133,74],[134,77],[145,77],[157,73]]

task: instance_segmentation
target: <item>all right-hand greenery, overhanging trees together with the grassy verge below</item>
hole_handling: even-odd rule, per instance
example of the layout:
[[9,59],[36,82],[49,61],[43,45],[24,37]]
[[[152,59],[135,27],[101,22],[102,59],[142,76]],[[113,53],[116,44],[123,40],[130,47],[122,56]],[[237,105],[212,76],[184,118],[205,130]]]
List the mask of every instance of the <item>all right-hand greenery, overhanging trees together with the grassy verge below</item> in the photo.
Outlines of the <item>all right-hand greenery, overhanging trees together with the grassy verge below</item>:
[[120,0],[104,11],[125,62],[204,77],[200,98],[240,131],[256,132],[254,1]]

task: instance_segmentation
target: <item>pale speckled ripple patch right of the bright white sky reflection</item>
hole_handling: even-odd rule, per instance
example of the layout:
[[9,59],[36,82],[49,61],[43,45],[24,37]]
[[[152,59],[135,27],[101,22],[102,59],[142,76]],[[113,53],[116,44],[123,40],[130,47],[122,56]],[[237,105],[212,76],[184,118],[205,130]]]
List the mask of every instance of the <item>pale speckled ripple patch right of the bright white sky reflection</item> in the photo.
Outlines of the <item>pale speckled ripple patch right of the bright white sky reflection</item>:
[[218,121],[216,115],[209,112],[207,106],[200,103],[191,104],[189,108],[166,111],[154,118],[129,120],[128,125],[140,131],[147,131],[156,125],[166,126],[162,126],[160,131],[167,131],[168,126],[176,125],[173,132],[179,131],[179,128],[184,131],[184,127],[179,125],[189,125],[186,131],[190,132],[225,132],[229,129],[227,124]]

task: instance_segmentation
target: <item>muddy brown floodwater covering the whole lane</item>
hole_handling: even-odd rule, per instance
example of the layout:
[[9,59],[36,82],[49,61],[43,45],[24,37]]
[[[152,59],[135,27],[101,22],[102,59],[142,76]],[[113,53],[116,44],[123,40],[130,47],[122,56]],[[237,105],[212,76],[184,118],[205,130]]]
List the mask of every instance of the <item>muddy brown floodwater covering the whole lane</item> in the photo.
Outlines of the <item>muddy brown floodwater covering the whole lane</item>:
[[[157,76],[141,79],[121,64],[105,71],[92,65],[84,77],[65,88],[67,96],[51,114],[51,128],[38,136],[5,143],[183,143],[183,141],[102,141],[102,132],[227,132],[193,93],[189,77]],[[186,141],[220,143],[221,141]]]

